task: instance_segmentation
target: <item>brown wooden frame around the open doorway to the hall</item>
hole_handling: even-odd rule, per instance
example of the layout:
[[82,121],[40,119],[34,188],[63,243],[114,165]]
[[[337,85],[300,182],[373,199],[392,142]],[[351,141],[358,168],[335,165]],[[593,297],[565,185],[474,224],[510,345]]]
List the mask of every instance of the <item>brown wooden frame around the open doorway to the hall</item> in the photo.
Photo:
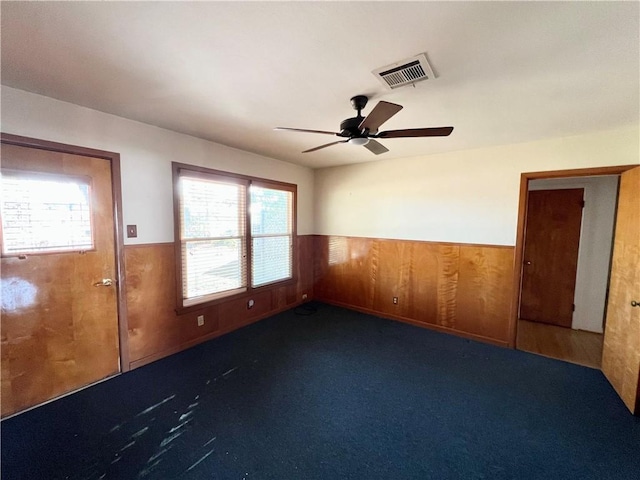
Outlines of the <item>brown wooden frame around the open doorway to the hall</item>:
[[[511,315],[509,317],[509,347],[516,348],[518,335],[518,313],[520,312],[520,292],[522,290],[522,261],[524,258],[524,233],[527,223],[527,200],[531,180],[594,177],[600,175],[620,175],[638,165],[617,165],[612,167],[579,168],[575,170],[550,170],[547,172],[524,172],[520,175],[520,198],[518,202],[518,227],[513,258],[513,287],[511,297]],[[616,205],[616,212],[617,212]],[[613,233],[615,235],[615,232]]]

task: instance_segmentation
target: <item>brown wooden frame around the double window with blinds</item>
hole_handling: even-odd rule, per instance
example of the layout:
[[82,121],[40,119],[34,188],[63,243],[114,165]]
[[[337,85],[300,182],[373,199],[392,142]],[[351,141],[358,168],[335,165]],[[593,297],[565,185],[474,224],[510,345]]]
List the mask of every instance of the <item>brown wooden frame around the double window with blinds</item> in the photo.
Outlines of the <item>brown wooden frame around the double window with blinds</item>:
[[[297,282],[297,193],[298,186],[292,183],[285,183],[276,180],[269,180],[266,178],[252,177],[248,175],[242,175],[238,173],[225,172],[222,170],[215,170],[212,168],[201,167],[196,165],[189,165],[180,162],[172,162],[172,181],[173,181],[173,224],[174,224],[174,253],[175,253],[175,268],[176,268],[176,312],[178,314],[189,313],[197,310],[203,310],[212,305],[217,305],[230,300],[247,297],[254,293],[270,290],[273,288],[279,288],[284,286],[293,285]],[[229,290],[228,293],[220,292],[217,294],[211,294],[209,299],[200,303],[192,303],[183,298],[183,264],[182,264],[182,232],[181,232],[181,208],[180,208],[180,178],[182,176],[192,178],[203,178],[209,180],[222,180],[229,183],[244,184],[245,185],[245,250],[243,255],[246,255],[247,261],[245,262],[245,278],[246,288]],[[283,190],[292,193],[291,198],[291,278],[284,280],[277,280],[264,285],[253,287],[252,278],[252,235],[251,235],[251,185],[270,188],[275,190]]]

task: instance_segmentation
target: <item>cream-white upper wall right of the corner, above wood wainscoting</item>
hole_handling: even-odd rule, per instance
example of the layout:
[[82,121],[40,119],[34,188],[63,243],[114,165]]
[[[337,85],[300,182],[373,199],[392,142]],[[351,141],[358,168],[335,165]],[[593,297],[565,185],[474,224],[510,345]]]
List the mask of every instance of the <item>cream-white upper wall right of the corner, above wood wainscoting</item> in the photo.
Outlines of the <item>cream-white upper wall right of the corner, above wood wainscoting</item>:
[[316,170],[316,233],[515,245],[521,173],[638,164],[639,150],[633,125]]

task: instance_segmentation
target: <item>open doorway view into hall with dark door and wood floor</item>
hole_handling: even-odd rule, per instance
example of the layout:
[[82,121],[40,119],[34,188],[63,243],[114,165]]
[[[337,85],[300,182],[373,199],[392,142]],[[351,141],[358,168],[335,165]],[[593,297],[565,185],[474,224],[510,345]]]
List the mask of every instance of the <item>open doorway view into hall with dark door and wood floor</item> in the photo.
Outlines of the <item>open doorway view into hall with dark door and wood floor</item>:
[[516,348],[600,368],[618,182],[529,182]]

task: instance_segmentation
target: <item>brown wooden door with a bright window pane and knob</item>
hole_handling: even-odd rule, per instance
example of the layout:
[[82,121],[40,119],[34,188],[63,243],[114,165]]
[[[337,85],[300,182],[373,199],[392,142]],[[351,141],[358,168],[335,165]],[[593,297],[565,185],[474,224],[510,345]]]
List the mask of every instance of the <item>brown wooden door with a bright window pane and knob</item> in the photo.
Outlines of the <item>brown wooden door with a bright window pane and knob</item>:
[[[46,192],[47,199],[34,200],[25,194],[11,205],[5,202],[3,208],[1,383],[5,416],[119,372],[120,357],[111,163],[3,144],[2,176],[3,182],[14,182],[13,187],[4,183],[3,193],[8,188],[26,188]],[[61,196],[54,197],[49,188],[62,192],[56,194]],[[73,204],[76,200],[71,197],[84,200]],[[62,200],[55,203],[52,198]],[[88,206],[83,207],[82,202]],[[78,209],[85,212],[80,226],[72,220],[79,218]],[[51,226],[51,218],[63,218],[59,228]],[[21,230],[9,228],[21,221],[27,222]],[[29,244],[20,231],[36,232],[36,240]],[[84,235],[84,240],[66,239],[69,232],[74,238]],[[18,237],[21,239],[16,240]],[[60,247],[65,241],[71,246]],[[88,244],[78,247],[82,242]],[[36,252],[37,248],[51,251]],[[21,249],[31,250],[16,253]],[[108,285],[103,279],[113,283]]]

